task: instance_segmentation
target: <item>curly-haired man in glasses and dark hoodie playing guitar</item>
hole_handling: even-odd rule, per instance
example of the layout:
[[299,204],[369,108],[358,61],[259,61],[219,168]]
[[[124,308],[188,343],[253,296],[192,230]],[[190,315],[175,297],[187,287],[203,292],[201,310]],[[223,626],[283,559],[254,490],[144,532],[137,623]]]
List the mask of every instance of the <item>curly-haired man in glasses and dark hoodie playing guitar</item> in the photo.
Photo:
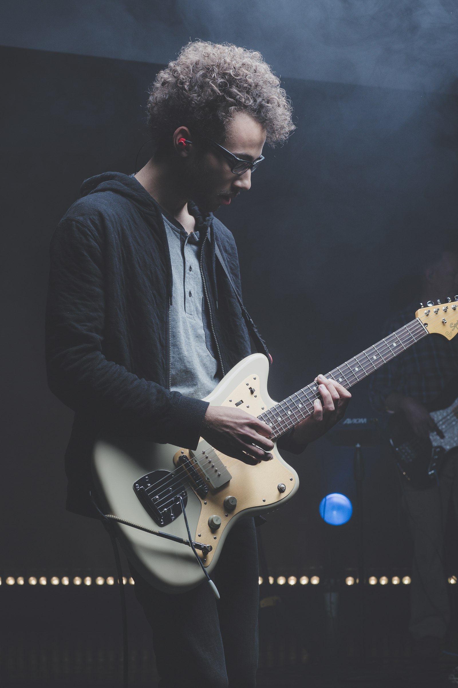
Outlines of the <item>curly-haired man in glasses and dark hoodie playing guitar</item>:
[[[250,334],[266,352],[234,293],[241,290],[233,237],[213,213],[250,189],[264,142],[273,146],[293,131],[286,94],[259,53],[196,41],[157,75],[148,125],[155,149],[144,169],[84,182],[51,243],[49,385],[76,411],[67,508],[87,515],[101,427],[190,449],[202,436],[250,463],[269,460],[273,448],[264,422],[201,399],[251,353]],[[332,427],[350,399],[341,385],[323,376],[319,383],[323,403],[284,438],[290,451]],[[131,571],[162,686],[255,685],[252,518],[227,537],[214,572],[218,604],[208,585],[163,594]]]

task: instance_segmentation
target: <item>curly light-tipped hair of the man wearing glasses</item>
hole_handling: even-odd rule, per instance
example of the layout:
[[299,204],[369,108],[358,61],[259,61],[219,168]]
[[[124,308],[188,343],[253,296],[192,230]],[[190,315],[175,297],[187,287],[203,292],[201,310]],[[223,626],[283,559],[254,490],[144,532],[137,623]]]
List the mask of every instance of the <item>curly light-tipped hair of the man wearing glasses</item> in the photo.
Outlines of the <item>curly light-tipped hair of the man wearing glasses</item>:
[[231,43],[190,41],[157,74],[149,94],[147,122],[158,150],[181,126],[225,142],[237,111],[264,127],[271,147],[296,128],[290,100],[260,52]]

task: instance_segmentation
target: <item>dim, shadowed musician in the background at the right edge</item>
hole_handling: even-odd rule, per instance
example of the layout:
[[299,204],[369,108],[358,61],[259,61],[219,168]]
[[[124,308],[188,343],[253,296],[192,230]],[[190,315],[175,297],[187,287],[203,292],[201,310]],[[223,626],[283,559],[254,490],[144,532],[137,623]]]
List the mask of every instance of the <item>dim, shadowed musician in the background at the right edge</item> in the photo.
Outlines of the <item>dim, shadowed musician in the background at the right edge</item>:
[[[431,252],[424,264],[418,301],[426,304],[439,299],[446,303],[447,297],[454,299],[455,294],[458,294],[458,252]],[[411,321],[417,308],[418,302],[389,319],[382,336]],[[458,397],[458,338],[448,341],[433,335],[374,373],[369,396],[377,411],[402,413],[416,436],[428,442],[429,433],[437,431],[437,427],[426,405],[435,402],[450,384],[456,386],[453,398]],[[450,497],[458,514],[457,459],[458,449],[451,449],[437,484],[429,488],[417,488],[402,478],[403,501],[413,539],[409,630],[422,658],[437,659],[450,621],[443,563],[444,528]]]

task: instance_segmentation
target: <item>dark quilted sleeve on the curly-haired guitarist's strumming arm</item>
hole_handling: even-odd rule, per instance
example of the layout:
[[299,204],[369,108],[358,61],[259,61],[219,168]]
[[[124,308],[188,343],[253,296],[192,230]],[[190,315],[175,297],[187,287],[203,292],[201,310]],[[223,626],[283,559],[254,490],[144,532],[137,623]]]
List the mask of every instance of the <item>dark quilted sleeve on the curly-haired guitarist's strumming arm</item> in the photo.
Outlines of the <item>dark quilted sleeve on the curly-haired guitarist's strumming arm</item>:
[[95,422],[194,449],[208,403],[139,378],[103,354],[104,259],[95,230],[63,219],[51,240],[50,261],[46,364],[51,391]]

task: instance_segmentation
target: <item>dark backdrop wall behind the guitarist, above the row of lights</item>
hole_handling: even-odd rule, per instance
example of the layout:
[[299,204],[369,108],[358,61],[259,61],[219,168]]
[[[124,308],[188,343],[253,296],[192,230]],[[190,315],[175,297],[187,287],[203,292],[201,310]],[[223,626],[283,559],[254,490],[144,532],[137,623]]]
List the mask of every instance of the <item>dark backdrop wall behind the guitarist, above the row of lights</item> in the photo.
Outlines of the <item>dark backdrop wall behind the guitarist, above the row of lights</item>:
[[[84,178],[134,171],[144,103],[160,65],[0,49],[3,109],[2,575],[113,571],[98,524],[65,512],[72,413],[47,389],[47,250]],[[458,100],[448,94],[285,79],[297,131],[267,149],[250,193],[218,211],[236,237],[244,300],[273,354],[283,398],[379,338],[412,297],[415,259],[455,240]],[[455,92],[454,92],[455,89]],[[139,164],[148,158],[144,149]],[[431,294],[431,297],[434,295]],[[412,314],[413,316],[413,314]],[[371,416],[364,383],[350,416]],[[290,458],[299,494],[269,517],[271,572],[309,573],[331,546],[355,565],[355,530],[325,526],[321,498],[354,497],[352,450],[326,440]],[[409,564],[393,465],[365,451],[369,567]]]

